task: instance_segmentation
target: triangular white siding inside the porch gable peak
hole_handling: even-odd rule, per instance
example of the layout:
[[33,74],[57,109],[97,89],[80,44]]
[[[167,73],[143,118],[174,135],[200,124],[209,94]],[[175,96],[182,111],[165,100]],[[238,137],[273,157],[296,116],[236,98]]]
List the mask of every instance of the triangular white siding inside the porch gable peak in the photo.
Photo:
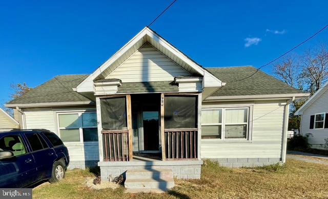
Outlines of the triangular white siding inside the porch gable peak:
[[173,81],[179,75],[190,73],[146,44],[106,78],[118,78],[122,82],[156,82]]

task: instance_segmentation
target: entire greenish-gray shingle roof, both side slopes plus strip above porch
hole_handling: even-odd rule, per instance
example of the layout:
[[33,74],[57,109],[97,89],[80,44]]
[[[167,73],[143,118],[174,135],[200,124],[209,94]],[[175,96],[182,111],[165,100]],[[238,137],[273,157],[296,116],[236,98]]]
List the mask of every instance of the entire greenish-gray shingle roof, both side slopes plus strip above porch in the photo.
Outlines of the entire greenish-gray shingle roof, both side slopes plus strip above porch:
[[[265,95],[303,93],[254,67],[207,68],[222,82],[228,83],[211,96]],[[255,73],[256,72],[256,73]],[[255,74],[254,74],[255,73]],[[252,75],[253,74],[253,75]],[[88,75],[59,75],[34,88],[7,104],[91,102],[87,97],[73,91]],[[240,80],[241,79],[241,80]],[[234,82],[237,81],[237,82]],[[231,83],[229,83],[231,82]],[[118,93],[127,92],[176,92],[170,81],[122,83]]]

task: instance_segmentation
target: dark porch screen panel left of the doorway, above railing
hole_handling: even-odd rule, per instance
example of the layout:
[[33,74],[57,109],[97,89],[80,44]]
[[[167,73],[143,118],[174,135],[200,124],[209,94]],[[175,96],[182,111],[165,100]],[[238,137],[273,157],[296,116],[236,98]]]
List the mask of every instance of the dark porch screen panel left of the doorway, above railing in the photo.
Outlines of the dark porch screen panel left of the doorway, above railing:
[[104,130],[128,130],[126,97],[100,99]]

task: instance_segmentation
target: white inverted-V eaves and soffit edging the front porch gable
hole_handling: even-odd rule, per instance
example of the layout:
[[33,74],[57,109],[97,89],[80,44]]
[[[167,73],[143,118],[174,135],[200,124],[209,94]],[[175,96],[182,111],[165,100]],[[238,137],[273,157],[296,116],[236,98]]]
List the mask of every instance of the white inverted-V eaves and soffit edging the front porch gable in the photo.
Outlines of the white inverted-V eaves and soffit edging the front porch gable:
[[176,49],[156,32],[148,27],[145,27],[103,65],[101,65],[83,82],[81,82],[76,87],[77,92],[94,92],[94,80],[104,79],[109,76],[109,74],[120,66],[128,57],[130,57],[147,42],[150,43],[155,49],[169,57],[177,65],[187,70],[190,74],[203,76],[203,87],[222,86],[222,82],[213,74],[192,61],[192,59]]

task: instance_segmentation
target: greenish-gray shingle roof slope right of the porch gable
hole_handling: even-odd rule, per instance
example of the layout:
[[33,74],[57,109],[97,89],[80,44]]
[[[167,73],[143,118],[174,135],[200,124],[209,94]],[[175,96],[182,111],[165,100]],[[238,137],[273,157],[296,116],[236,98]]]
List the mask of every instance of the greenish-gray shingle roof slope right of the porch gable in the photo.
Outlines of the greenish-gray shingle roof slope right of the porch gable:
[[257,71],[256,68],[251,66],[206,69],[222,82],[228,83],[211,94],[211,96],[303,93],[267,73],[260,70]]

